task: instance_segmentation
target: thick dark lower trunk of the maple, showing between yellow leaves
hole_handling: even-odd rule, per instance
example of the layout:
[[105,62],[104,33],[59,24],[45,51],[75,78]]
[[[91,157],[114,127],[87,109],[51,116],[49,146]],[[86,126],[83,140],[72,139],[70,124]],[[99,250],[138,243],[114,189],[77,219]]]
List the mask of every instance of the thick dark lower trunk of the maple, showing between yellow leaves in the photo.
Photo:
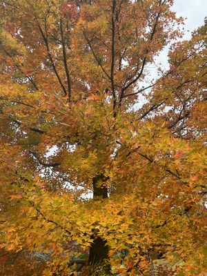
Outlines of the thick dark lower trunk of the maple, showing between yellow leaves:
[[[92,179],[94,199],[96,197],[103,199],[108,198],[108,189],[106,186],[103,186],[104,181],[106,180],[106,177],[102,174],[97,175]],[[103,182],[102,186],[100,186],[100,182]],[[107,264],[108,251],[109,248],[108,245],[106,245],[106,241],[101,237],[97,237],[95,233],[94,241],[90,246],[89,263],[90,266],[92,266],[92,270],[89,275],[101,275],[99,274],[99,269],[101,270],[101,273],[104,273],[104,275],[110,275],[110,264]]]

